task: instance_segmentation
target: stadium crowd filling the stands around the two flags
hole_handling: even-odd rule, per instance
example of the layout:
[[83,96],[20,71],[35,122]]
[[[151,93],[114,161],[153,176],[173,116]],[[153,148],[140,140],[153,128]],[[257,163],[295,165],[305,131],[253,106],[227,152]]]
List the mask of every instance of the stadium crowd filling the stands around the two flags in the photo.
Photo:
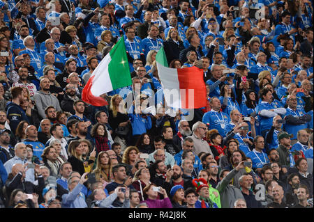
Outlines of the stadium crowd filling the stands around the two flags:
[[[313,207],[312,0],[0,9],[1,207]],[[132,85],[87,104],[82,90],[120,38]],[[170,68],[204,70],[207,106],[160,100],[161,47]]]

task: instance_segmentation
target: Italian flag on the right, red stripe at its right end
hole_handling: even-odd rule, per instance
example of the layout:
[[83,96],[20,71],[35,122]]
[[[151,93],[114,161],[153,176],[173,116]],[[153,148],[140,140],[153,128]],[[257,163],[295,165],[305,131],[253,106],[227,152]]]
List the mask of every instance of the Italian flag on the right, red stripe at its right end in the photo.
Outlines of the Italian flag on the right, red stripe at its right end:
[[156,54],[156,63],[167,106],[174,109],[198,109],[207,106],[202,69],[195,66],[168,68],[163,47]]

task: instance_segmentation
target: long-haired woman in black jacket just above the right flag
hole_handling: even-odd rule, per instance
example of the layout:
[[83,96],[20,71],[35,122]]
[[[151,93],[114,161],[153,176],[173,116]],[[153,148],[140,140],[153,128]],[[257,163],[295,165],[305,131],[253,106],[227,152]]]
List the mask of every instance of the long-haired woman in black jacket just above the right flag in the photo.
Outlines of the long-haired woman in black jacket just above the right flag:
[[180,51],[184,49],[184,42],[182,42],[176,28],[169,30],[166,41],[163,42],[163,49],[165,50],[168,65],[172,60],[179,59]]

